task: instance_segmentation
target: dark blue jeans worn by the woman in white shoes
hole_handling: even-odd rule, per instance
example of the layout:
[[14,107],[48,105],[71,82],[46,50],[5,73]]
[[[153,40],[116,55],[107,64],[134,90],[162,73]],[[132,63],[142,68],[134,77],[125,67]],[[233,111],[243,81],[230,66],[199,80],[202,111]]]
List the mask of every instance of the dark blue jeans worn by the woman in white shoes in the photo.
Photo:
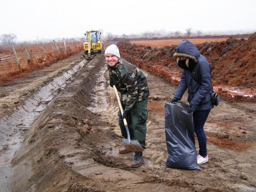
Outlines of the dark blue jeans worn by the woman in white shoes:
[[210,109],[193,112],[194,131],[198,138],[199,154],[202,157],[206,157],[206,155],[207,155],[206,136],[204,133],[204,123],[206,122],[206,119],[207,119],[209,113],[210,113]]

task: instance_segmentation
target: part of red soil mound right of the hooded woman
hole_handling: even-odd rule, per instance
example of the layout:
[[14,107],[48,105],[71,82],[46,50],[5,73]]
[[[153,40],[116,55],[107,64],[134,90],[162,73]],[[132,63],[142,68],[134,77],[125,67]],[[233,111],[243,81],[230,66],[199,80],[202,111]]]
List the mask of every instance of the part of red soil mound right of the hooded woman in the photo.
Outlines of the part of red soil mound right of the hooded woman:
[[226,42],[205,43],[198,48],[210,61],[215,84],[255,88],[256,33],[248,41],[229,38]]

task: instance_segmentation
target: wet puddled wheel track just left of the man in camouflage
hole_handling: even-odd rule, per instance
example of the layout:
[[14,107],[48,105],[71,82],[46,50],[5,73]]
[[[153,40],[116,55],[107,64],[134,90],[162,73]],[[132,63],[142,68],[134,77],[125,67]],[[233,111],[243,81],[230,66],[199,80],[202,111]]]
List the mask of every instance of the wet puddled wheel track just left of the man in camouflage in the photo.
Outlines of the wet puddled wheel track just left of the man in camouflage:
[[95,74],[97,78],[96,86],[95,86],[95,89],[93,90],[95,94],[92,94],[93,96],[93,100],[91,101],[92,106],[87,108],[88,110],[94,113],[104,112],[108,108],[107,98],[103,91],[105,89],[106,78],[104,77],[104,74],[106,70],[107,70],[107,66],[105,64],[102,67],[102,69]]

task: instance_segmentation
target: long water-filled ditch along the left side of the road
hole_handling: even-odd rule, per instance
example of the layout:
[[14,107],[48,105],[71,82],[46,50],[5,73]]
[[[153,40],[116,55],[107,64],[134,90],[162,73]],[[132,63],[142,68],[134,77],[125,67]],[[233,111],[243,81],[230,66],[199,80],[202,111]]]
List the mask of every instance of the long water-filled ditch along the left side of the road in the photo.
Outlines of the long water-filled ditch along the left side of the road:
[[[90,62],[91,63],[91,62]],[[87,66],[90,66],[90,63]],[[56,77],[42,87],[33,98],[29,98],[24,105],[17,108],[11,116],[0,119],[0,189],[10,192],[12,182],[11,160],[16,150],[20,147],[24,133],[40,112],[59,94],[72,76],[82,69],[86,60],[82,60],[71,70],[64,72],[62,76]]]

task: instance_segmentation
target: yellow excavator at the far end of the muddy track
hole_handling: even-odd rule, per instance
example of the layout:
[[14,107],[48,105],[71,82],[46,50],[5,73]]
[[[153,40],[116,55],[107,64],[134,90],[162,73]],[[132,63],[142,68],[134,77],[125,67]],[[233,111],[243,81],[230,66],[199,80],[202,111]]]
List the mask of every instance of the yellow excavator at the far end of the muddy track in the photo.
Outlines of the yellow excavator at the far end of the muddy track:
[[99,30],[90,30],[85,34],[86,41],[84,42],[84,54],[86,58],[91,59],[91,54],[104,52],[104,44],[100,40],[101,32]]

